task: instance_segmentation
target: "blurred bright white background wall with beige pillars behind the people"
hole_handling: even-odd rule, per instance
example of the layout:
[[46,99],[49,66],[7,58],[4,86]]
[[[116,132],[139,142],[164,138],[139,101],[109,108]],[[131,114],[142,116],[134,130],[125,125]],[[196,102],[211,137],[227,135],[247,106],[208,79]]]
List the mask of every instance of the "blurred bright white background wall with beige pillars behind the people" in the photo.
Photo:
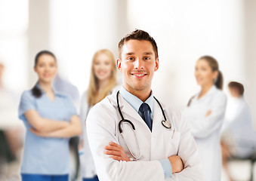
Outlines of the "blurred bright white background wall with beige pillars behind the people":
[[[18,102],[37,80],[35,54],[47,49],[57,57],[60,76],[82,94],[94,52],[108,48],[117,58],[120,38],[143,29],[159,47],[160,68],[153,81],[159,100],[184,109],[199,90],[193,75],[196,60],[211,55],[220,64],[227,94],[229,81],[244,84],[256,127],[255,17],[255,0],[0,0],[3,84]],[[12,115],[17,119],[17,109]],[[14,122],[20,126],[19,120]],[[242,176],[233,171],[238,180],[248,180],[248,162],[230,167],[242,171]]]

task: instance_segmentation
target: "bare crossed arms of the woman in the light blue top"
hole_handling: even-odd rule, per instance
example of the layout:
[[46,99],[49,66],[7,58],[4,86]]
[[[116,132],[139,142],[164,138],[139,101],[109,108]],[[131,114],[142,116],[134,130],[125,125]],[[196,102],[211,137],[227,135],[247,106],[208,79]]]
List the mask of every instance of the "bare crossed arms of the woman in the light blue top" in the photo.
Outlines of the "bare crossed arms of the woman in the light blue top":
[[70,122],[42,118],[35,110],[25,112],[32,125],[29,130],[39,137],[73,137],[82,133],[82,127],[77,115],[72,115]]

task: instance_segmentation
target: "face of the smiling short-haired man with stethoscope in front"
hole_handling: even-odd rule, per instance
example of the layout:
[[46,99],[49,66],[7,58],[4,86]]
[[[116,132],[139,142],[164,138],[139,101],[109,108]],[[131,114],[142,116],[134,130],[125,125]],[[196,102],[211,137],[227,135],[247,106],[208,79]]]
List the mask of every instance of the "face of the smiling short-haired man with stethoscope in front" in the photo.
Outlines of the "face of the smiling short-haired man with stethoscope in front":
[[159,68],[150,41],[129,40],[122,47],[121,60],[117,67],[122,72],[124,87],[131,93],[151,90],[154,72]]

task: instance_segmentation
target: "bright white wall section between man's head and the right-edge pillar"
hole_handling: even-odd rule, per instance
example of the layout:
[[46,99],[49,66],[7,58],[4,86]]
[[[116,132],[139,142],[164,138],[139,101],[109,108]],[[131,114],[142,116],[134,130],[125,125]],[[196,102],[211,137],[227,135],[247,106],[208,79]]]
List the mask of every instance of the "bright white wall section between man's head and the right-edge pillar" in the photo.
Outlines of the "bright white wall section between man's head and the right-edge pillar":
[[[136,1],[128,4],[129,29],[144,29],[159,46],[154,80],[161,100],[183,109],[199,87],[199,57],[215,57],[227,81],[245,78],[242,1]],[[156,88],[157,87],[157,88]],[[161,88],[159,88],[161,87]]]

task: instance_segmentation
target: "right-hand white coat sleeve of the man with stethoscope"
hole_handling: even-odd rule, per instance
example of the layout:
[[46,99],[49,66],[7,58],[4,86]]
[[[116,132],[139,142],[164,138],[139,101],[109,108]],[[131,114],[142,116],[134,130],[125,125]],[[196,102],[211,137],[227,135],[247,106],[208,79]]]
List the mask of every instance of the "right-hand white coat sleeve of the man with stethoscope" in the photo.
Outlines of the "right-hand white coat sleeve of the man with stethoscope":
[[196,142],[193,135],[190,133],[187,121],[184,121],[184,118],[180,113],[177,115],[177,120],[179,120],[178,124],[180,130],[180,143],[177,155],[180,156],[184,162],[184,170],[180,173],[173,173],[171,180],[202,181],[204,180],[202,162],[199,157]]

